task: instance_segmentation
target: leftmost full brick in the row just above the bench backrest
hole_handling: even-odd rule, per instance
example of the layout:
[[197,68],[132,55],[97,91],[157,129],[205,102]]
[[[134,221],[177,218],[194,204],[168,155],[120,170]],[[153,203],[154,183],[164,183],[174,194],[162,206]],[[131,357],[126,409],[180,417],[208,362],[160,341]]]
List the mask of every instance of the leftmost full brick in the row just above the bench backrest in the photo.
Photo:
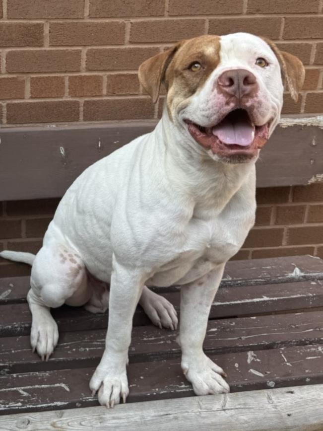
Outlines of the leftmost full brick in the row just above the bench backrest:
[[55,123],[78,121],[79,102],[76,100],[51,100],[46,102],[7,103],[7,123]]

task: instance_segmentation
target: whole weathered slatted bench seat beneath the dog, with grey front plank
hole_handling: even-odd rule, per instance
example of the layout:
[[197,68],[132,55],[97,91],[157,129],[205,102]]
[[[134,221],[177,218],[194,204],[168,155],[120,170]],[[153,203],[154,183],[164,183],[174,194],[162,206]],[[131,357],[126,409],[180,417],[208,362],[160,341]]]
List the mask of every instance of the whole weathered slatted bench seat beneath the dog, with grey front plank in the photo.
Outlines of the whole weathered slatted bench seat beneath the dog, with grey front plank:
[[[57,429],[54,426],[69,430],[69,421],[73,429],[103,430],[107,428],[102,421],[108,425],[110,419],[114,426],[108,429],[113,430],[124,429],[122,424],[125,427],[127,421],[131,421],[133,430],[156,424],[158,430],[166,430],[170,424],[163,415],[175,422],[181,418],[184,422],[178,424],[186,424],[174,429],[196,430],[196,423],[185,422],[188,412],[195,412],[195,419],[199,416],[196,412],[200,412],[201,423],[217,427],[222,424],[217,428],[220,430],[247,430],[241,424],[241,428],[234,428],[231,423],[225,428],[228,415],[222,415],[218,424],[217,419],[210,418],[210,412],[217,418],[218,412],[233,409],[239,417],[242,403],[246,417],[256,423],[260,412],[253,411],[251,400],[257,409],[264,402],[263,408],[269,408],[273,415],[271,420],[282,421],[281,430],[294,421],[299,425],[300,412],[307,408],[313,410],[309,423],[315,419],[322,426],[309,429],[323,429],[321,403],[316,401],[314,405],[305,396],[316,394],[321,401],[323,398],[323,386],[316,386],[323,385],[323,261],[319,258],[297,256],[228,263],[212,305],[204,350],[227,372],[233,392],[229,395],[193,397],[192,387],[181,371],[177,333],[154,327],[138,307],[129,350],[128,404],[111,412],[93,407],[98,406],[97,398],[88,388],[104,349],[107,314],[95,315],[67,306],[53,310],[60,328],[59,345],[51,359],[42,362],[30,350],[31,315],[25,299],[28,288],[28,277],[0,280],[0,412],[5,415],[0,417],[1,430]],[[178,288],[164,291],[179,309]],[[294,388],[300,385],[310,386]],[[247,395],[246,391],[251,390],[260,392],[257,396],[253,392]],[[237,397],[235,392],[246,396]],[[174,400],[182,397],[190,398]],[[275,397],[280,400],[279,406]],[[295,399],[302,405],[295,407]],[[153,400],[158,401],[149,404]],[[142,403],[146,401],[149,402]],[[147,423],[146,409],[150,412]],[[154,414],[153,409],[157,409]],[[50,410],[55,412],[45,413]],[[258,419],[261,422],[262,416]],[[85,427],[86,420],[91,428]],[[253,429],[266,428],[248,428]]]

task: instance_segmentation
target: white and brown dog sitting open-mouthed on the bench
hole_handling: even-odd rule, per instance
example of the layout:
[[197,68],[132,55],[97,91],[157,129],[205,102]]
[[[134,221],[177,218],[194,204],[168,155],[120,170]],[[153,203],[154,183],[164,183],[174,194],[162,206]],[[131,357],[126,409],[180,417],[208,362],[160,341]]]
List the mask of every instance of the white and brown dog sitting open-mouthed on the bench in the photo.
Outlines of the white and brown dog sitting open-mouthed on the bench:
[[[175,329],[174,307],[146,285],[181,288],[182,368],[197,395],[228,392],[224,371],[203,353],[207,319],[225,263],[255,220],[255,162],[278,123],[283,80],[297,99],[302,63],[247,33],[184,40],[145,61],[142,86],[162,119],[86,169],[65,193],[32,264],[31,345],[48,359],[58,342],[50,307],[107,307],[106,348],[90,381],[113,407],[129,393],[126,366],[139,302],[156,325]],[[100,288],[93,280],[100,280]]]

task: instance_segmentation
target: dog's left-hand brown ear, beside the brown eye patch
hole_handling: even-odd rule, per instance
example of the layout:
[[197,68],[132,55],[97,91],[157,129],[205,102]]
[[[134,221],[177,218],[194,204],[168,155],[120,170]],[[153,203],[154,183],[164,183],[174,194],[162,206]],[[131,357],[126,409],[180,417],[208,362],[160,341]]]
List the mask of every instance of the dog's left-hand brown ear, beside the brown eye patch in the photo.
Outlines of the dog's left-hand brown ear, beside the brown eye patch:
[[160,84],[163,82],[166,69],[178,48],[179,44],[151,57],[139,66],[139,81],[152,98],[153,103],[157,102]]

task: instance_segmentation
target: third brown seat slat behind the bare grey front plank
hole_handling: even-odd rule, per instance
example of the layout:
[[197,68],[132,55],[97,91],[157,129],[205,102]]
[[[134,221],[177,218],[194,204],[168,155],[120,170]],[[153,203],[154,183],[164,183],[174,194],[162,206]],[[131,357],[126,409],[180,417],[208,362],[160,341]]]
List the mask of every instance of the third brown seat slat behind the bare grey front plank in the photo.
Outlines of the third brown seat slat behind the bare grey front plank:
[[[164,296],[179,310],[180,292]],[[210,318],[255,315],[285,310],[323,307],[323,281],[281,283],[260,286],[222,287],[217,292]],[[108,312],[92,314],[83,307],[63,306],[52,309],[61,332],[103,329],[107,327]],[[28,304],[0,305],[0,336],[27,335],[30,332],[31,314]],[[146,325],[148,317],[138,307],[133,325]]]

